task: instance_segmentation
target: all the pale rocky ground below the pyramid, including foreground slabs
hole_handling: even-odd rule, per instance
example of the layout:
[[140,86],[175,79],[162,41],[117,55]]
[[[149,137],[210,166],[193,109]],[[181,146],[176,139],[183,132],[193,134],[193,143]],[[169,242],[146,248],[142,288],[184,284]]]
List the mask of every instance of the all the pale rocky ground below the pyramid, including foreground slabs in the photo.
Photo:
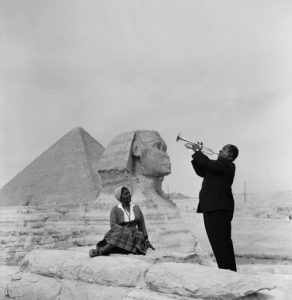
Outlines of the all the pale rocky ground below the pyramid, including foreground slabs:
[[165,239],[167,228],[159,235],[153,223],[149,235],[156,251],[90,259],[89,249],[108,229],[105,209],[2,207],[0,299],[292,299],[292,222],[282,213],[289,214],[290,194],[266,202],[237,199],[238,273],[218,270],[201,256],[212,251],[202,215],[195,212],[197,199],[179,196],[174,202],[201,252],[179,251],[176,235],[171,242],[173,228]]

